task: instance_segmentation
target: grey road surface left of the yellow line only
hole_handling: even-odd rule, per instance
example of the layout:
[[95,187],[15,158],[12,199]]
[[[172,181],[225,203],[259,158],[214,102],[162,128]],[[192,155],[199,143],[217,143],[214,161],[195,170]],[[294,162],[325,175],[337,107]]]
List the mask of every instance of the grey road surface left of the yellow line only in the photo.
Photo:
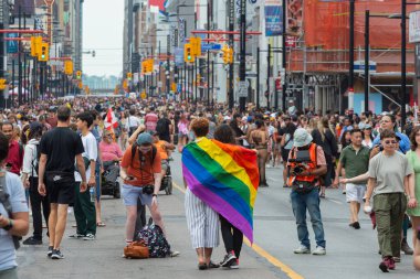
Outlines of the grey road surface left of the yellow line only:
[[[132,278],[287,278],[279,269],[261,259],[246,245],[243,246],[239,270],[213,269],[199,271],[197,257],[191,248],[183,212],[183,194],[158,197],[169,243],[181,255],[176,258],[135,260],[122,258],[124,248],[125,207],[122,200],[103,200],[106,227],[97,229],[97,239],[85,242],[69,239],[75,232],[73,214],[69,215],[67,228],[62,243],[63,260],[46,257],[46,238],[42,246],[22,246],[18,251],[20,279],[132,279]],[[164,192],[161,192],[164,193]],[[32,229],[31,229],[32,233]],[[214,251],[213,261],[224,256],[222,239]]]

